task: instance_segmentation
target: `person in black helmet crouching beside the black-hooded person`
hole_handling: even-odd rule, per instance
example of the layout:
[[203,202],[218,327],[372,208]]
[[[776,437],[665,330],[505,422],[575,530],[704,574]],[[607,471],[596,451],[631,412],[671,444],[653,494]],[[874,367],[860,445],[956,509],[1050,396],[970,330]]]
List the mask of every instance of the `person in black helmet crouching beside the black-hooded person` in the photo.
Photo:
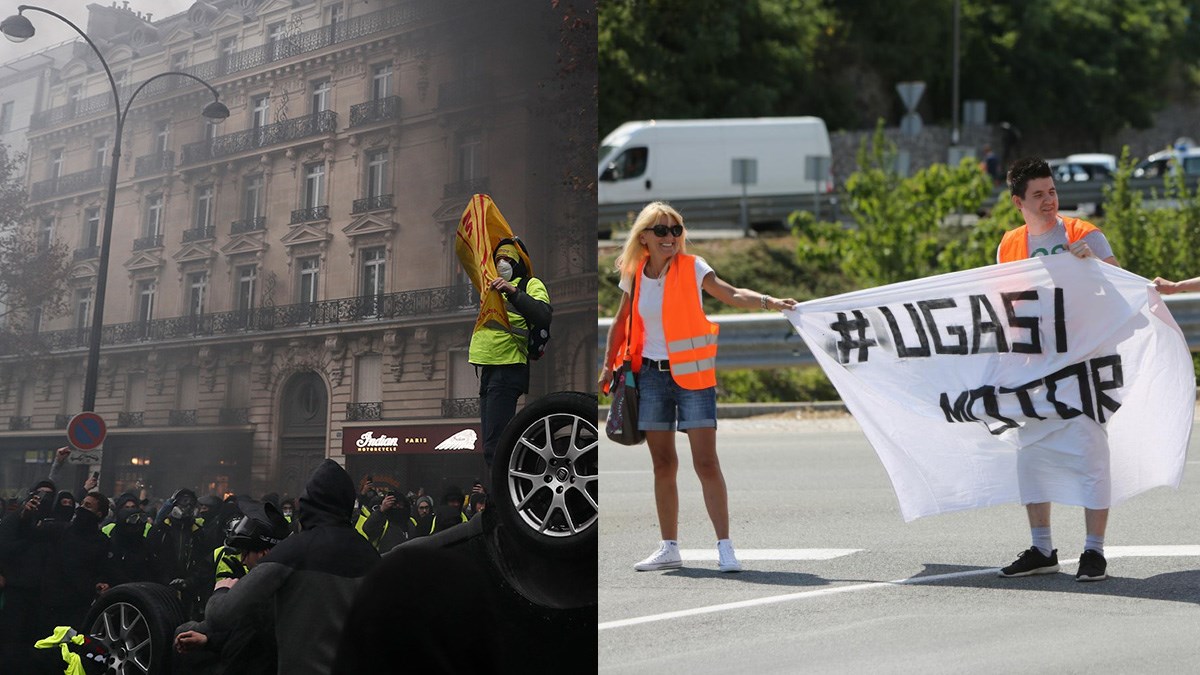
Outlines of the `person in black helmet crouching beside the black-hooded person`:
[[[271,502],[239,500],[239,508],[245,515],[232,521],[222,546],[236,554],[232,579],[245,577],[292,533]],[[214,596],[227,592],[228,587],[222,587]],[[272,603],[265,599],[250,607],[228,631],[215,631],[204,621],[184,623],[175,634],[175,651],[181,656],[174,665],[187,673],[274,675],[278,659]]]

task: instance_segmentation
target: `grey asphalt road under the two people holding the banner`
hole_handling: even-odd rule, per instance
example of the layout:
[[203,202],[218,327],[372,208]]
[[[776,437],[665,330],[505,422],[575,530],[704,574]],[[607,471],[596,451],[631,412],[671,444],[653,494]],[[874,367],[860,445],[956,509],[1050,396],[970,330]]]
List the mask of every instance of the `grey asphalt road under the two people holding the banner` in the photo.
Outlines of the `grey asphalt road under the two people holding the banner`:
[[[1178,490],[1112,509],[1110,579],[1092,584],[1074,580],[1082,509],[1054,507],[1061,573],[998,579],[995,568],[1030,545],[1024,509],[904,522],[850,418],[721,422],[740,574],[716,572],[679,435],[684,567],[635,572],[659,539],[649,455],[604,440],[600,671],[1200,673],[1200,434],[1192,438]],[[701,555],[713,560],[689,560]]]

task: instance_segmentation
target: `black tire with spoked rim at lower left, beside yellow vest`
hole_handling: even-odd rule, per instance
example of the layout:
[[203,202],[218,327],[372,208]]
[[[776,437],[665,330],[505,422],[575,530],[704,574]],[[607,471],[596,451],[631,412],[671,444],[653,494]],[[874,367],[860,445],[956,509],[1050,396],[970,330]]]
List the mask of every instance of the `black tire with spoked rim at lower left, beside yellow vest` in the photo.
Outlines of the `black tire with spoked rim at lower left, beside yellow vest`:
[[184,609],[174,590],[161,584],[121,584],[92,603],[83,631],[108,647],[108,673],[162,675],[172,671],[172,641],[182,622]]

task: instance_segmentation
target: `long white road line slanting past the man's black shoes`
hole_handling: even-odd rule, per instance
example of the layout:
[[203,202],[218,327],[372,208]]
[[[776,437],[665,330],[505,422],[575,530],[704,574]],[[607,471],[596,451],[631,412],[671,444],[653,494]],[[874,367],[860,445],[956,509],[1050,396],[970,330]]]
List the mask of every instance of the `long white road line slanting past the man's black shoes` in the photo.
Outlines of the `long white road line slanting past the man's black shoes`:
[[[738,551],[740,555],[740,551]],[[1160,545],[1160,546],[1104,546],[1105,557],[1168,557],[1168,556],[1200,556],[1200,545]],[[714,555],[715,557],[715,555]],[[1079,558],[1072,560],[1060,560],[1058,565],[1069,566],[1079,562]],[[678,611],[666,611],[662,614],[652,614],[648,616],[635,616],[632,619],[622,619],[618,621],[605,621],[600,623],[598,628],[600,631],[606,631],[608,628],[624,628],[626,626],[637,626],[640,623],[652,623],[655,621],[668,621],[671,619],[686,619],[689,616],[698,616],[701,614],[714,614],[718,611],[728,611],[733,609],[745,609],[751,607],[763,607],[768,604],[779,604],[785,602],[799,601],[805,598],[816,598],[822,596],[834,596],[838,593],[854,593],[858,591],[871,591],[875,589],[884,589],[888,586],[910,586],[916,584],[929,584],[931,581],[944,581],[947,579],[965,579],[968,577],[986,577],[995,575],[1000,568],[990,567],[986,569],[967,569],[965,572],[952,572],[948,574],[932,574],[930,577],[910,577],[907,579],[896,579],[895,581],[871,581],[868,584],[852,584],[847,586],[833,586],[829,589],[820,589],[816,591],[802,591],[799,593],[786,593],[782,596],[768,596],[764,598],[754,598],[749,601],[739,601],[732,603],[714,604],[708,607],[697,607],[692,609],[683,609]]]

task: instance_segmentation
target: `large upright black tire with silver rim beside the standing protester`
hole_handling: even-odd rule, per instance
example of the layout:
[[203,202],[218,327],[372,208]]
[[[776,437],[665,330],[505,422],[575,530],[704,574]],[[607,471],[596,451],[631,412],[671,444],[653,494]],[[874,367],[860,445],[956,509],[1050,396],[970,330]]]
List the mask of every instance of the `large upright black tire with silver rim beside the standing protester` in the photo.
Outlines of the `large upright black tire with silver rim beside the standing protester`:
[[538,550],[572,554],[600,528],[596,396],[558,392],[526,405],[504,428],[488,508]]

